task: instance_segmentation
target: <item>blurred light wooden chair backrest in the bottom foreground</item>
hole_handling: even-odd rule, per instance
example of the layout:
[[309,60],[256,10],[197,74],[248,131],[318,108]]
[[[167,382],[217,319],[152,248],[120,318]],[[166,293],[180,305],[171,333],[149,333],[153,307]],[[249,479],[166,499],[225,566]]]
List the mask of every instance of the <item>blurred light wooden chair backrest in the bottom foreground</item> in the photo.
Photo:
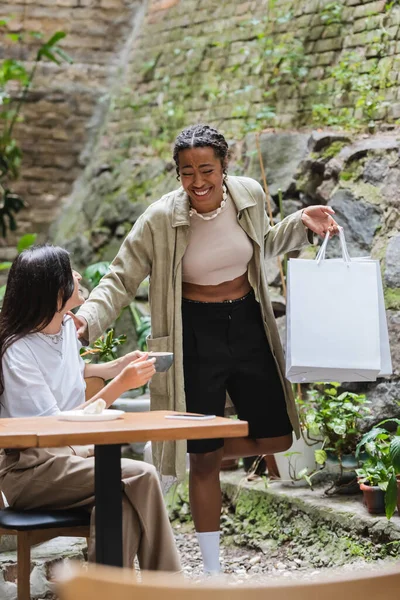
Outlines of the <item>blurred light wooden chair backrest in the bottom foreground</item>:
[[143,573],[138,582],[127,569],[92,566],[60,585],[62,600],[398,600],[400,563],[318,579],[268,580],[232,585],[227,577],[194,583],[182,576]]

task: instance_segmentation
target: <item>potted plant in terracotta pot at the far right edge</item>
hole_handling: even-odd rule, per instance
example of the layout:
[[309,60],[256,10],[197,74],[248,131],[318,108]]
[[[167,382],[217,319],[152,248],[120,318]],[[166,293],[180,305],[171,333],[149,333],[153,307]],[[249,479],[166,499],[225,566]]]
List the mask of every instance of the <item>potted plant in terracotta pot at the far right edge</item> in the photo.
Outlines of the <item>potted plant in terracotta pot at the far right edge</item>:
[[[395,433],[389,432],[382,425],[397,424]],[[360,440],[356,454],[364,448],[368,458],[357,469],[360,489],[364,495],[364,503],[372,514],[385,513],[390,519],[399,508],[400,473],[400,420],[388,419],[368,431]]]

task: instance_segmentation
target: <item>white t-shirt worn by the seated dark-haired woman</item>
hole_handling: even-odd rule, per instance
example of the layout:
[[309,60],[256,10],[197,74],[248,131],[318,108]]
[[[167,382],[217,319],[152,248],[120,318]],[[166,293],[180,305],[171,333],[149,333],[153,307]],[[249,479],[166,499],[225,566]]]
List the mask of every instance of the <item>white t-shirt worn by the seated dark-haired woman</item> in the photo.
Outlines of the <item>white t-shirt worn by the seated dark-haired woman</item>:
[[57,344],[49,336],[30,333],[7,349],[0,417],[47,417],[85,401],[85,363],[71,317],[64,318],[62,331]]

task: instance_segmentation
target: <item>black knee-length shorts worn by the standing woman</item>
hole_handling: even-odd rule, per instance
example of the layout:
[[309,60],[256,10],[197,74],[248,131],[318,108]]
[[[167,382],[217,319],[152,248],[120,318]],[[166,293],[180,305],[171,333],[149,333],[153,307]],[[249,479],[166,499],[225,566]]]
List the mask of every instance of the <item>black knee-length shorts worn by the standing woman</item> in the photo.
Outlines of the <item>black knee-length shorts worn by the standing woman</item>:
[[[188,412],[224,415],[226,392],[253,439],[288,435],[292,426],[275,360],[250,292],[238,300],[183,299],[183,367]],[[188,440],[188,452],[213,452],[223,439]]]

